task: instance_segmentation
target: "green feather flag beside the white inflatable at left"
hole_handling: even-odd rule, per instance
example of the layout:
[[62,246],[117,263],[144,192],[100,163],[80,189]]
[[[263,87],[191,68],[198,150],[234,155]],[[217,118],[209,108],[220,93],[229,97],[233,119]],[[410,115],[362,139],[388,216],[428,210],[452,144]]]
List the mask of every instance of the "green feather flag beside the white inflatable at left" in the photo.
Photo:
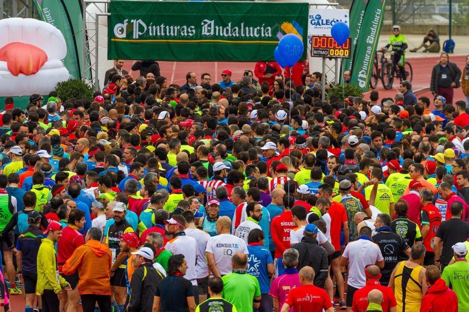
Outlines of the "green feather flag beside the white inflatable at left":
[[67,44],[65,67],[74,78],[82,78],[82,0],[33,0],[42,21],[59,29]]

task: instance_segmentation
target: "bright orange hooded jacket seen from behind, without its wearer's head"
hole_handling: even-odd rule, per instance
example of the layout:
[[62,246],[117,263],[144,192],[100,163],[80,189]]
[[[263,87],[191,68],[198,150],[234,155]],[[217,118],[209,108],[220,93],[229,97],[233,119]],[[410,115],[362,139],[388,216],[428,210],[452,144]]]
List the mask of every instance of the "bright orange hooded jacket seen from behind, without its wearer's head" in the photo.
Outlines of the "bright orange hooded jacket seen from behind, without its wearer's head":
[[62,271],[65,275],[73,274],[78,269],[78,293],[81,295],[111,295],[109,272],[112,254],[109,247],[98,240],[89,239],[75,249],[65,262]]

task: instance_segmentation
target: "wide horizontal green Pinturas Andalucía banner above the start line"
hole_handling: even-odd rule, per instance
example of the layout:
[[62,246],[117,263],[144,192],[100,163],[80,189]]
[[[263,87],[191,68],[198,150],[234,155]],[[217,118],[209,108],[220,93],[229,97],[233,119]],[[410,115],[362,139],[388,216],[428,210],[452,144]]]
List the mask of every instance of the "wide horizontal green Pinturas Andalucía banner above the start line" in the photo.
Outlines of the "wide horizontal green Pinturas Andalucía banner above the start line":
[[289,33],[308,50],[308,3],[113,0],[109,12],[108,59],[272,61]]

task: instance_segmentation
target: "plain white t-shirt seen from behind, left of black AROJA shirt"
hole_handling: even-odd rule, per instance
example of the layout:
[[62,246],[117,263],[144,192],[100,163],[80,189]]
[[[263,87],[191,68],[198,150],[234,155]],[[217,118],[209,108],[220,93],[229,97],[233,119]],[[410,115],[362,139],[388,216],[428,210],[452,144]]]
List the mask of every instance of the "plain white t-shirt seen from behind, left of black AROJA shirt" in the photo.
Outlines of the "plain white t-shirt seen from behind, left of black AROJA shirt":
[[348,258],[347,284],[355,288],[365,286],[365,267],[383,260],[378,245],[367,239],[358,239],[348,243],[342,256]]

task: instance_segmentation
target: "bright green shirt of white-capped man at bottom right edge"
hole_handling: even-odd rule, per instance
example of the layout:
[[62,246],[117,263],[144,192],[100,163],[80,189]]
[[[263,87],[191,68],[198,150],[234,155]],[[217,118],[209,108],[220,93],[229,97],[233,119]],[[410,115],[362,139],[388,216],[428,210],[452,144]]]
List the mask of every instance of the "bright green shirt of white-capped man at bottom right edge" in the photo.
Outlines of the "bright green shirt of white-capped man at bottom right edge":
[[458,296],[459,311],[469,311],[469,263],[460,260],[448,265],[441,278]]

